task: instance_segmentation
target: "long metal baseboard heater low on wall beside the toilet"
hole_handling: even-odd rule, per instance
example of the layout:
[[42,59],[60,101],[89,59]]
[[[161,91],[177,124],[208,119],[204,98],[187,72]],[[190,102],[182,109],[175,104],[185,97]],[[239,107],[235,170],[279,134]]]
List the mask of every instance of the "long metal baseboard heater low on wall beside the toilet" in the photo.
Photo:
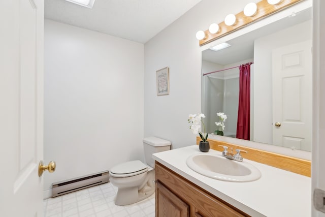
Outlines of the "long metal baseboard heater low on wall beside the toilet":
[[109,171],[94,173],[52,184],[52,197],[68,194],[98,184],[109,182]]

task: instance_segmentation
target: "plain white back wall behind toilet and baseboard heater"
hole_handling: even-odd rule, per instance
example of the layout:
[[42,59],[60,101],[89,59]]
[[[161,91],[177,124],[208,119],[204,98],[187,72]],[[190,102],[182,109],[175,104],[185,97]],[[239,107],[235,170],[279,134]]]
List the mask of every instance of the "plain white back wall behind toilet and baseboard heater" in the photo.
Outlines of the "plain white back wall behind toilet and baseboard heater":
[[45,190],[143,160],[143,71],[143,44],[45,20]]

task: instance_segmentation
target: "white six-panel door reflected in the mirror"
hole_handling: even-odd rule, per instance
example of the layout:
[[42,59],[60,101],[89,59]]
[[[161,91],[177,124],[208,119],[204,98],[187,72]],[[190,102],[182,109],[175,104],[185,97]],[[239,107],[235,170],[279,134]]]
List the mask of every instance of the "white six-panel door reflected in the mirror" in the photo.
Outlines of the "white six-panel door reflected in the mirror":
[[272,52],[273,144],[311,150],[311,40]]

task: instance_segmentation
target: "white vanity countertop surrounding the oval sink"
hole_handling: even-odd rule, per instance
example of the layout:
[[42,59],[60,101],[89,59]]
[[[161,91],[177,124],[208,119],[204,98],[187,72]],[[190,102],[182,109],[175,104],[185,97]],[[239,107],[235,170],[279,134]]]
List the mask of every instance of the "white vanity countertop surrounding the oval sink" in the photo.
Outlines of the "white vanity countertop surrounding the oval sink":
[[[198,145],[154,153],[152,158],[251,216],[311,216],[311,178],[244,159],[262,176],[256,181],[228,182],[203,176],[186,165]],[[210,149],[209,154],[221,155]],[[217,165],[216,165],[217,166]]]

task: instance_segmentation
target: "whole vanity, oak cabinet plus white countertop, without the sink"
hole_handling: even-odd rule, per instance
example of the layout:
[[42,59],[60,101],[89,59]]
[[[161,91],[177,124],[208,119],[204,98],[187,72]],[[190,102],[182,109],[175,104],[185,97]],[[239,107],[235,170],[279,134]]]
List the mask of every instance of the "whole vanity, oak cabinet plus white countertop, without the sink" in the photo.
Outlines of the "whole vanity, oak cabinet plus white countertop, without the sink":
[[[199,147],[192,145],[153,154],[156,216],[311,215],[310,177],[244,159],[261,171],[261,178],[217,180],[186,165],[188,157],[199,153]],[[212,149],[208,153],[221,156]]]

